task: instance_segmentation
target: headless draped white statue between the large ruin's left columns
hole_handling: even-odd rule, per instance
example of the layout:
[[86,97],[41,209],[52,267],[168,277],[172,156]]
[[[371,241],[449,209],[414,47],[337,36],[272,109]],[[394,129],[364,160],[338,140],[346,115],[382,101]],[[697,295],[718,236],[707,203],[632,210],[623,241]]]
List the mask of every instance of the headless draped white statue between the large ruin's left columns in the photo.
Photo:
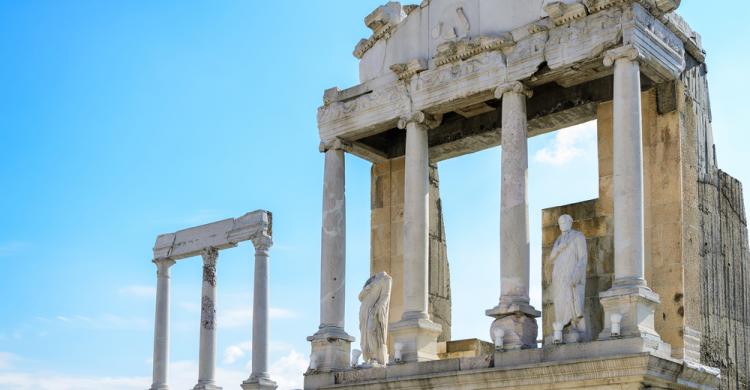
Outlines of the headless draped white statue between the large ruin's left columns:
[[388,362],[388,310],[391,305],[393,280],[385,272],[373,275],[359,293],[359,344],[365,365]]

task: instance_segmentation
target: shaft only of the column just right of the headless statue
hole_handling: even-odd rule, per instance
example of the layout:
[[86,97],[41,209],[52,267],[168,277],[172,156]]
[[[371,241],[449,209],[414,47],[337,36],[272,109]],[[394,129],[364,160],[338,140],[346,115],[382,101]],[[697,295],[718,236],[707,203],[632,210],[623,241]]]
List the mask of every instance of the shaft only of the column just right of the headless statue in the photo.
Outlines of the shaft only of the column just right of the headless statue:
[[429,318],[429,150],[427,126],[406,125],[404,171],[404,315]]

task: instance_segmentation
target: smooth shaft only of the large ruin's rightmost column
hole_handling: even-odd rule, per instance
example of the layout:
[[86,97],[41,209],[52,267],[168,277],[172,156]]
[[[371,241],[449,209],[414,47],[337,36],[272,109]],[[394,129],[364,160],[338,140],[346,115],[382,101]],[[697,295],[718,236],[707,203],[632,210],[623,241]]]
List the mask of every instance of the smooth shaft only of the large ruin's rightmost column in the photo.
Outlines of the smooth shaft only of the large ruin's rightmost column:
[[640,66],[627,57],[616,59],[614,64],[615,282],[642,285],[645,282]]

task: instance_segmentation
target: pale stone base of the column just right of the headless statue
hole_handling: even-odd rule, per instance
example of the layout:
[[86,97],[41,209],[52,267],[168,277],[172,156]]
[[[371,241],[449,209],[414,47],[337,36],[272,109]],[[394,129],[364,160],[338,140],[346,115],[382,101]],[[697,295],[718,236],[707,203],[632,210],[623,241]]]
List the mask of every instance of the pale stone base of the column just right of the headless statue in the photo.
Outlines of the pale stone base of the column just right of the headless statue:
[[393,338],[394,350],[390,361],[395,362],[395,345],[401,344],[401,362],[426,362],[438,360],[437,338],[443,331],[440,324],[436,324],[425,318],[409,318],[404,313],[405,319],[390,325],[388,333]]

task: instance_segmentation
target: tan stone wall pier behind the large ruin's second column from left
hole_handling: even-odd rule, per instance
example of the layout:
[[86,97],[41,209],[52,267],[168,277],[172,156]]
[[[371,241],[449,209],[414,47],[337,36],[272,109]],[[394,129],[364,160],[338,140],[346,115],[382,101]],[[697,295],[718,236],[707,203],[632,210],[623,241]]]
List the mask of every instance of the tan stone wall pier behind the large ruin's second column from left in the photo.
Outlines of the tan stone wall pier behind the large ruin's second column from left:
[[[393,277],[390,323],[404,311],[404,158],[372,167],[370,272],[385,271]],[[451,290],[448,252],[440,201],[437,165],[430,167],[429,292],[432,320],[443,326],[438,341],[451,339]]]

